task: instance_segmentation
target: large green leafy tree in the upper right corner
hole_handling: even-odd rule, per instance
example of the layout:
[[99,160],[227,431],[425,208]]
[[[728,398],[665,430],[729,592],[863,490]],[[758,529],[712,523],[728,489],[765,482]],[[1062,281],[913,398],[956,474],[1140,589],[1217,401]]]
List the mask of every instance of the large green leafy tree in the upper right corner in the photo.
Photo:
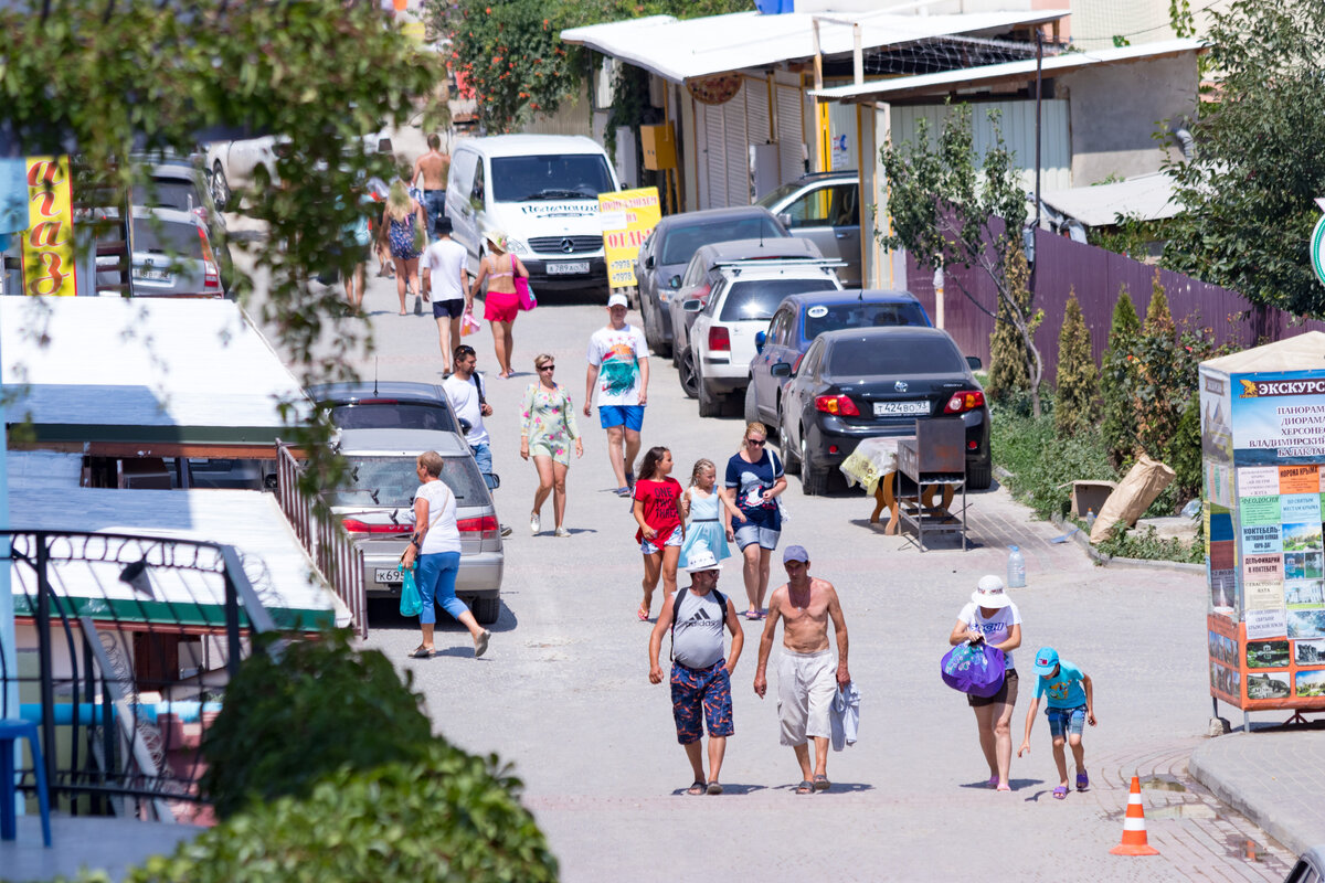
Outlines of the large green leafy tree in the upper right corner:
[[1325,196],[1321,0],[1238,0],[1211,15],[1222,82],[1191,127],[1196,159],[1167,165],[1186,212],[1163,262],[1253,303],[1325,314],[1309,256],[1313,199]]

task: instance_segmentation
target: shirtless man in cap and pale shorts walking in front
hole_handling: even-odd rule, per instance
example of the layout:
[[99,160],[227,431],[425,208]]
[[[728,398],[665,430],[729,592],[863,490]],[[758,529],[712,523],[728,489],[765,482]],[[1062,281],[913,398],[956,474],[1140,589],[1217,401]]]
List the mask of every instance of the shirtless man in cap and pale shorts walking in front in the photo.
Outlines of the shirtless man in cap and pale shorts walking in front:
[[[778,659],[778,719],[782,744],[791,745],[800,764],[798,794],[828,790],[829,714],[835,686],[851,683],[847,670],[847,621],[832,582],[810,576],[810,556],[804,547],[788,547],[782,555],[787,584],[768,598],[768,620],[759,638],[759,663],[754,671],[754,691],[761,699],[768,690],[766,669],[772,651],[778,620],[786,620],[782,657]],[[833,676],[828,647],[828,620],[837,635],[837,665]],[[815,765],[810,768],[808,739],[815,740]]]

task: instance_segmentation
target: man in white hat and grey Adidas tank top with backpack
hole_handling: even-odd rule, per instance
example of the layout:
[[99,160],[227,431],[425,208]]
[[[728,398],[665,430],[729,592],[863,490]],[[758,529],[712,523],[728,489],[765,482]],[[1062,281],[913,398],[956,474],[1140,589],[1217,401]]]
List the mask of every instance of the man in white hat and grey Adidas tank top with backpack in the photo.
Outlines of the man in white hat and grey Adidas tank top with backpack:
[[[649,635],[649,682],[662,683],[659,653],[662,634],[672,631],[672,715],[676,737],[685,747],[694,773],[686,794],[721,794],[718,773],[727,748],[731,723],[731,671],[741,658],[745,635],[731,601],[718,592],[718,564],[704,544],[690,551],[690,585],[677,589],[662,602],[657,625]],[[731,633],[731,653],[722,658],[722,627]],[[700,740],[704,723],[709,727],[709,776],[704,774]]]

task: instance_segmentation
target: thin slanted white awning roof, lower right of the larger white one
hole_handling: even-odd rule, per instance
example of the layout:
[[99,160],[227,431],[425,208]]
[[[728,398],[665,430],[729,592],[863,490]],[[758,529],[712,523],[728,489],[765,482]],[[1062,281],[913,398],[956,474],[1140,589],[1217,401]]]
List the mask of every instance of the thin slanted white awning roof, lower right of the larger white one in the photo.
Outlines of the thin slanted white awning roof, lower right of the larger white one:
[[[1044,77],[1059,77],[1096,65],[1121,65],[1133,61],[1169,58],[1189,52],[1203,52],[1207,46],[1208,44],[1200,40],[1166,40],[1163,42],[1147,42],[1140,46],[1121,46],[1117,49],[1064,52],[1057,56],[1047,56],[1041,70]],[[820,89],[811,94],[818,98],[843,102],[890,102],[902,98],[918,98],[921,95],[942,95],[953,91],[1024,83],[1034,79],[1035,58],[1030,58],[1024,61],[1008,61],[1000,65],[943,70],[937,74],[893,77],[860,86],[835,86],[832,89]]]

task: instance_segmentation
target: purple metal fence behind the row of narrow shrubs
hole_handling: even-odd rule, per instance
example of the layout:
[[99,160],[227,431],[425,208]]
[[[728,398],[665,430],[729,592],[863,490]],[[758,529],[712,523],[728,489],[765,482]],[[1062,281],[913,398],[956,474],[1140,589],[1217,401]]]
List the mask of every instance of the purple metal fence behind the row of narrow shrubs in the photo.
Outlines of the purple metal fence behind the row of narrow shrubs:
[[[1059,331],[1068,295],[1076,291],[1090,348],[1100,364],[1109,344],[1109,327],[1118,293],[1126,287],[1137,312],[1145,319],[1155,273],[1163,285],[1169,310],[1177,322],[1191,320],[1211,328],[1216,343],[1232,340],[1253,347],[1264,340],[1279,340],[1302,331],[1325,331],[1325,322],[1301,319],[1283,310],[1252,304],[1230,289],[1220,289],[1173,270],[1161,270],[1093,245],[1073,242],[1048,230],[1035,237],[1035,302],[1044,310],[1044,322],[1035,334],[1035,343],[1044,357],[1044,380],[1053,383],[1059,364]],[[906,281],[912,294],[935,318],[933,273],[906,258]],[[998,308],[998,293],[988,275],[978,269],[950,269],[945,278],[945,328],[969,356],[990,359],[990,335]],[[965,293],[963,293],[965,289]]]

